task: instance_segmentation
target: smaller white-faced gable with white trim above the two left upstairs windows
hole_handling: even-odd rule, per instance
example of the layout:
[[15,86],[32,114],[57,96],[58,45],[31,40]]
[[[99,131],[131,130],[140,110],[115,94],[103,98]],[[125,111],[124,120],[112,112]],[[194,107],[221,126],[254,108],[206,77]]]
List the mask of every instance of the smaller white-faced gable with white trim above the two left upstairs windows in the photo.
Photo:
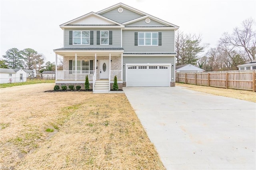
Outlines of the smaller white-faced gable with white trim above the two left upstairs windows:
[[96,14],[95,12],[90,12],[74,20],[70,20],[64,24],[60,25],[60,28],[71,28],[71,27],[79,27],[79,26],[123,26],[122,24],[110,20],[104,16]]

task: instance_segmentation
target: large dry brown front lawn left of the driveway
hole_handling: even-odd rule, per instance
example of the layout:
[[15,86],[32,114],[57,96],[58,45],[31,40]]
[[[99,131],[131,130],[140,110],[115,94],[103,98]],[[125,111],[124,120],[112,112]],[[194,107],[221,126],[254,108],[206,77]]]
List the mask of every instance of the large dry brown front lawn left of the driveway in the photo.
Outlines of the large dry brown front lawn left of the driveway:
[[124,93],[44,92],[53,87],[0,89],[0,167],[165,169]]

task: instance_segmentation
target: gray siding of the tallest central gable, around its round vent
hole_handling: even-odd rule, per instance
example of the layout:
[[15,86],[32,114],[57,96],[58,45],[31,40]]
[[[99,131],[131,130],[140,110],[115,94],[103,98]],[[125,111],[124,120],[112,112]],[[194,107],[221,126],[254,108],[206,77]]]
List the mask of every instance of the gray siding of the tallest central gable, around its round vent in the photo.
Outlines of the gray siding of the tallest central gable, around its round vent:
[[126,8],[123,8],[124,11],[122,13],[119,13],[118,8],[115,8],[113,10],[110,10],[110,11],[105,12],[105,13],[100,14],[100,15],[102,15],[106,18],[109,18],[110,20],[114,20],[115,22],[118,22],[118,23],[121,23],[121,24],[124,23],[124,22],[130,21],[130,20],[134,20],[136,18],[142,17],[142,15],[137,14],[135,12],[132,12],[132,11],[126,9]]

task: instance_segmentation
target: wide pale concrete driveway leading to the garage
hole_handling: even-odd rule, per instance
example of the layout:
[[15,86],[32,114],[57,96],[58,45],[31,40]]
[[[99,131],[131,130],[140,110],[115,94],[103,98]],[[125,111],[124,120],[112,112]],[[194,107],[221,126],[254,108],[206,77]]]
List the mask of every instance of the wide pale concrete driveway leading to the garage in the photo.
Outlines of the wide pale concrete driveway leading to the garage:
[[167,170],[256,169],[256,103],[184,87],[123,90]]

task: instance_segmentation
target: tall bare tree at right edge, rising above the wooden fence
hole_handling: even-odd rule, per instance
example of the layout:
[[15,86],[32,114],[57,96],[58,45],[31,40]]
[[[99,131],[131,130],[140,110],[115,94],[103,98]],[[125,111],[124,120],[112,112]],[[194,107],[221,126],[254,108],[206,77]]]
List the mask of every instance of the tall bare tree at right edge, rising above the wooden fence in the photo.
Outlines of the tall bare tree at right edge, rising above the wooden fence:
[[223,38],[220,39],[220,44],[229,47],[229,50],[234,48],[244,49],[247,60],[255,59],[256,55],[256,31],[253,30],[255,21],[250,18],[242,22],[241,28],[234,28],[232,34],[225,32]]

